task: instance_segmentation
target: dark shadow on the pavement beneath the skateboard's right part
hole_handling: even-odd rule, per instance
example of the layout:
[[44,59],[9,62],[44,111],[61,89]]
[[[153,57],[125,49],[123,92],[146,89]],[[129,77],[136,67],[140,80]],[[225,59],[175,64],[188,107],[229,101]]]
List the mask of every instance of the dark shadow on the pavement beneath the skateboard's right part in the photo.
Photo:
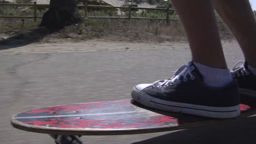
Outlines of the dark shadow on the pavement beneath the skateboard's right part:
[[245,143],[255,141],[256,116],[185,129],[133,144]]

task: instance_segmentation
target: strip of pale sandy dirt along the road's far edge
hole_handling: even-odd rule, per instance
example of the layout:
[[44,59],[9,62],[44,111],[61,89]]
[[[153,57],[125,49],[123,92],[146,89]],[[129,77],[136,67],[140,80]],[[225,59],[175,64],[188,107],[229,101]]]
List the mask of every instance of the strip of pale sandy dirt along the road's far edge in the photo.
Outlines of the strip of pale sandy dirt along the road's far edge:
[[[223,40],[223,47],[237,46],[236,40]],[[2,45],[0,55],[19,55],[30,53],[56,53],[56,52],[97,52],[97,51],[129,51],[129,50],[165,50],[189,49],[188,41],[112,41],[106,39],[92,39],[86,41],[57,40],[28,45]]]

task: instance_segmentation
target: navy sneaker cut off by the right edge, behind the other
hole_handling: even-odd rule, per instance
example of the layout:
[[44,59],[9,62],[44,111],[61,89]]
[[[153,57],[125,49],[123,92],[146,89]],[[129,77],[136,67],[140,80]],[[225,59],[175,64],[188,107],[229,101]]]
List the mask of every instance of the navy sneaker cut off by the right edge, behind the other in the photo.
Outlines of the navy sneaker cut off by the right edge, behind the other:
[[[237,65],[241,64],[239,67]],[[256,97],[256,75],[248,69],[248,63],[239,61],[231,70],[232,77],[238,82],[238,91],[241,95]]]

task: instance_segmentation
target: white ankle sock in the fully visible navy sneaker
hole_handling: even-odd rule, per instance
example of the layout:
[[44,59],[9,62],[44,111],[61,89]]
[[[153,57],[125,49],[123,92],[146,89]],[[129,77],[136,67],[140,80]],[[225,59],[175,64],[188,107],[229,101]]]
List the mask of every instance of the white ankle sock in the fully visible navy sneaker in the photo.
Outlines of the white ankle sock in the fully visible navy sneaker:
[[212,68],[200,63],[194,62],[197,69],[203,76],[203,82],[210,87],[224,87],[233,81],[229,69]]

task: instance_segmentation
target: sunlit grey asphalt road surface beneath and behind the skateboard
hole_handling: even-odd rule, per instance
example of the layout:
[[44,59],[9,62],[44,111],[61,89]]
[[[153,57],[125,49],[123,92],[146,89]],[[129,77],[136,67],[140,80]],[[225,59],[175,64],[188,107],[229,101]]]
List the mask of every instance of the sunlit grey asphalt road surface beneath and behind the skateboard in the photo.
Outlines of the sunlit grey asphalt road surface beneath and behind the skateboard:
[[[242,60],[225,47],[229,68]],[[190,61],[187,48],[0,56],[0,143],[53,143],[45,134],[14,129],[15,113],[51,105],[130,99],[133,86],[170,78]],[[248,143],[256,118],[164,133],[83,136],[85,143]]]

